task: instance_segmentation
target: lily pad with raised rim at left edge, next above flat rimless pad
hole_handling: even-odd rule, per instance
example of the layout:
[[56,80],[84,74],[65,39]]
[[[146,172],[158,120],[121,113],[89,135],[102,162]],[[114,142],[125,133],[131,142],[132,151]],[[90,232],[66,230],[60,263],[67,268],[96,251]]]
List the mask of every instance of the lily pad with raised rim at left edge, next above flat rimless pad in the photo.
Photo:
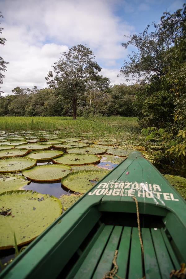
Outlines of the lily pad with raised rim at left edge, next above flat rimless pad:
[[0,159],[0,172],[18,172],[35,166],[36,160],[31,158]]

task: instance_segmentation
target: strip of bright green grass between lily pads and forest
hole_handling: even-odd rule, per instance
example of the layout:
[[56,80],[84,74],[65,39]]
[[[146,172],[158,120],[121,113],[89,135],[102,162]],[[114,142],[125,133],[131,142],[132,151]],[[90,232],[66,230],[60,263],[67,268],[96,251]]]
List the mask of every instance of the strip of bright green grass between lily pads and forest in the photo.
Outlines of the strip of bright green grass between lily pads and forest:
[[1,131],[60,131],[86,138],[122,138],[140,133],[136,117],[0,117]]

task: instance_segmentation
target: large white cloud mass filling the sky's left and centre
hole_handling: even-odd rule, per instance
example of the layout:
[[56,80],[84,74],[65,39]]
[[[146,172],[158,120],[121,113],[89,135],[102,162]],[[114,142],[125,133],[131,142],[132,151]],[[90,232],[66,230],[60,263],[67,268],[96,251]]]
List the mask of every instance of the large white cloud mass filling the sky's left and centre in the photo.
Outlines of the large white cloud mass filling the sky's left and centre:
[[[121,46],[123,34],[133,28],[114,15],[114,4],[112,0],[2,0],[1,27],[7,42],[0,46],[1,55],[10,63],[2,90],[10,94],[15,86],[46,86],[51,65],[78,43],[87,44],[104,67],[115,67],[115,60],[127,54]],[[107,72],[113,75],[112,70]]]

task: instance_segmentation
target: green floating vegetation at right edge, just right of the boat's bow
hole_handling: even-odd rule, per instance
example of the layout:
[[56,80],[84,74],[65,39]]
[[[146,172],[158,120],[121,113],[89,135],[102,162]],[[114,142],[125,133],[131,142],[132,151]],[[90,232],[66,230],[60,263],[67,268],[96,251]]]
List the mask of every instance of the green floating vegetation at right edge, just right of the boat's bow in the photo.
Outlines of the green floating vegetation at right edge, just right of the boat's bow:
[[164,175],[170,184],[178,191],[180,196],[186,200],[186,178],[178,175]]

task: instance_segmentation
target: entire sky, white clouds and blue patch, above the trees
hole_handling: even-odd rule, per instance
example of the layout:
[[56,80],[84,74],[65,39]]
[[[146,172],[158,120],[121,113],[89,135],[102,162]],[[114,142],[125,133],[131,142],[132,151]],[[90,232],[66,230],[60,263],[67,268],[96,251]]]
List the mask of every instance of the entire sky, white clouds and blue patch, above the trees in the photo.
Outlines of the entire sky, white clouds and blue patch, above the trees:
[[182,0],[0,0],[4,16],[0,27],[5,46],[0,56],[9,62],[1,85],[2,95],[17,86],[46,87],[45,77],[61,53],[83,44],[93,51],[101,75],[111,85],[132,49],[122,47],[124,35],[143,32],[147,24],[160,22],[164,11],[174,12]]

